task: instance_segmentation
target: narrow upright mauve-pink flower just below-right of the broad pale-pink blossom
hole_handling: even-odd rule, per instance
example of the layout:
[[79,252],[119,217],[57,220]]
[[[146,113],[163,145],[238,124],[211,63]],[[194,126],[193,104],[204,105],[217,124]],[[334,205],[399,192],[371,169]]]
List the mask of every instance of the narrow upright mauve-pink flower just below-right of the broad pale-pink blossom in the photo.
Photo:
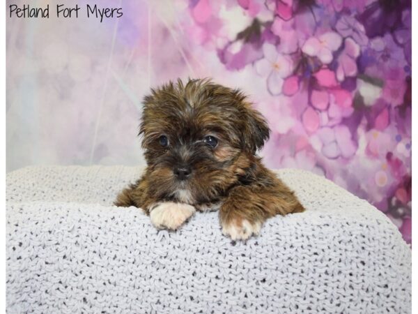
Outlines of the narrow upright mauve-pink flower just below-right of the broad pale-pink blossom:
[[338,57],[338,68],[336,69],[336,78],[339,82],[346,77],[357,75],[356,59],[360,55],[360,46],[351,38],[344,40],[344,50]]

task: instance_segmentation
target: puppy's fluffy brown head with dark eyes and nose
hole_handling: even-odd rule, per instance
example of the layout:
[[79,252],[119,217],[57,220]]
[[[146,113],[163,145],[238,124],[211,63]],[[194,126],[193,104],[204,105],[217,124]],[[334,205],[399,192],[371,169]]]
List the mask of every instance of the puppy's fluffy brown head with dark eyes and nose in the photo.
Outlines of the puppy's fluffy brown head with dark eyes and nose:
[[269,129],[240,91],[179,80],[146,96],[140,134],[150,193],[198,204],[245,178]]

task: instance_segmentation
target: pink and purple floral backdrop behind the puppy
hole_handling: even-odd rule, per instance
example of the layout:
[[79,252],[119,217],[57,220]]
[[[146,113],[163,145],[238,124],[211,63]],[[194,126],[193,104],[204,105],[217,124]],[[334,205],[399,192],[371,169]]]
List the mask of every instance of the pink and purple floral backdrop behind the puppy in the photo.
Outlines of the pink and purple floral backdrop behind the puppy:
[[268,119],[268,166],[331,179],[411,241],[410,1],[78,3],[123,16],[7,19],[9,171],[143,164],[144,94],[212,77],[243,89]]

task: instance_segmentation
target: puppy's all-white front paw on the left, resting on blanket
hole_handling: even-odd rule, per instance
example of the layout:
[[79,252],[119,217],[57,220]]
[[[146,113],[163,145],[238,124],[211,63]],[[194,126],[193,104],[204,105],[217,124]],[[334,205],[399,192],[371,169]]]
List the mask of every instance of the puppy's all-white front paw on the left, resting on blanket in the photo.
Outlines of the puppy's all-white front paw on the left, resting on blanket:
[[158,229],[176,230],[194,214],[196,209],[189,204],[164,202],[157,204],[151,212],[151,223]]

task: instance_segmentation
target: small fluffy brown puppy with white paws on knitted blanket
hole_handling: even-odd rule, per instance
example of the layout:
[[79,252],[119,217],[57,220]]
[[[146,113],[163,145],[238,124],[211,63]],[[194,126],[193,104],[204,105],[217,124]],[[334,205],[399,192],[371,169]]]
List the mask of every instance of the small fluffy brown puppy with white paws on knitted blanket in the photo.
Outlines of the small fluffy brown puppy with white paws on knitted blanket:
[[256,156],[269,133],[238,89],[210,80],[152,89],[139,130],[148,167],[115,204],[140,207],[155,227],[170,230],[195,211],[219,209],[231,239],[258,234],[267,218],[304,211]]

